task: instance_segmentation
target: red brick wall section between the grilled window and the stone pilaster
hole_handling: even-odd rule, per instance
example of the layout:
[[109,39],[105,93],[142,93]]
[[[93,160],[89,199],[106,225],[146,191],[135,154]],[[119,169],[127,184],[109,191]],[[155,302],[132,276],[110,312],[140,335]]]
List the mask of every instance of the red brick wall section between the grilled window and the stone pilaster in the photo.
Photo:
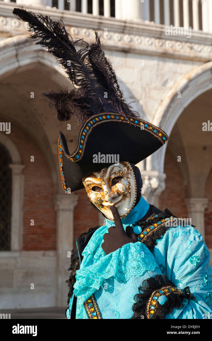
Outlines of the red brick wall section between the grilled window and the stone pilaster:
[[[56,214],[54,189],[49,167],[42,150],[19,128],[11,125],[10,138],[15,143],[25,165],[23,175],[23,250],[56,249]],[[30,162],[30,156],[34,162]],[[34,226],[30,220],[34,220]]]

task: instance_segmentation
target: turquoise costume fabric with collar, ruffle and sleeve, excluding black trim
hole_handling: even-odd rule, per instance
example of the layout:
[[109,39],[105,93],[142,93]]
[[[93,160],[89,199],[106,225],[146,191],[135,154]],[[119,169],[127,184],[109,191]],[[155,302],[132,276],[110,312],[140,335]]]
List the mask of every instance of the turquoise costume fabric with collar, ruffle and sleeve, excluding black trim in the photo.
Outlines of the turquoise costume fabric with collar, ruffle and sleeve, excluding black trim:
[[[149,204],[141,197],[139,203],[122,220],[124,228],[138,221],[148,211]],[[89,318],[83,303],[94,294],[101,318],[127,319],[133,315],[132,306],[138,287],[148,278],[166,275],[183,290],[190,287],[194,299],[183,299],[181,308],[174,308],[165,318],[204,318],[212,312],[212,270],[207,246],[192,226],[169,227],[157,240],[152,253],[137,241],[105,255],[101,248],[103,235],[114,224],[105,219],[82,252],[83,260],[76,272],[74,294],[77,296],[76,318]],[[161,296],[159,303],[165,303]],[[92,302],[88,303],[92,307]],[[67,310],[70,318],[72,297]],[[152,305],[152,308],[155,307]],[[95,311],[94,311],[94,314]],[[95,316],[95,315],[94,315]],[[141,318],[144,318],[141,316]]]

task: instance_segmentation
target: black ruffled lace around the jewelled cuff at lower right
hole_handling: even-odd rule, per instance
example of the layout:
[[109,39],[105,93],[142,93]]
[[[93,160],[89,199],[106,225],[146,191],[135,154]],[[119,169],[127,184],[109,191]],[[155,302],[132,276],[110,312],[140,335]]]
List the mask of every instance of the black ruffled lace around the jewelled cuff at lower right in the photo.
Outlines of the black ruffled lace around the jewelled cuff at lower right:
[[[164,286],[175,288],[175,285],[165,275],[156,275],[155,277],[144,280],[142,286],[138,288],[139,294],[134,296],[135,303],[132,307],[134,314],[131,319],[147,319],[147,305],[152,293],[160,290]],[[173,311],[174,307],[178,309],[182,307],[183,298],[195,298],[191,294],[189,286],[185,287],[181,292],[170,292],[166,297],[167,301],[163,305],[158,303],[158,308],[154,311],[152,318],[163,319],[166,314],[170,314]]]

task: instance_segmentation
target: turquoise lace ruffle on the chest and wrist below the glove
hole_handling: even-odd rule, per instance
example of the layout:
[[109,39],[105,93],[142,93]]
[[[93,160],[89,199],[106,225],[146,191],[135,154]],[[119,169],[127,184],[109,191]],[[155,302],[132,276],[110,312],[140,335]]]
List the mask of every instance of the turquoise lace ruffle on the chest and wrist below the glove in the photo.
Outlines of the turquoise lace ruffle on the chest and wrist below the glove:
[[151,252],[141,242],[126,244],[106,255],[101,244],[107,231],[108,226],[99,227],[82,253],[84,258],[74,285],[74,294],[82,303],[99,289],[104,279],[114,276],[118,282],[126,283],[131,276],[140,277],[157,267]]

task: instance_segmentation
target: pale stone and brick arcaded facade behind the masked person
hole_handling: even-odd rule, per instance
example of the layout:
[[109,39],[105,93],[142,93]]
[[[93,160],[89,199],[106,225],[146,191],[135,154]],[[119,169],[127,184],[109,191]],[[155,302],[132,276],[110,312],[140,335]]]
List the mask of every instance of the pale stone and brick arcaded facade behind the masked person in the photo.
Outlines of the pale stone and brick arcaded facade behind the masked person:
[[[138,164],[144,197],[179,218],[192,218],[212,249],[212,132],[202,131],[202,123],[211,119],[212,34],[195,30],[189,39],[170,36],[164,25],[139,18],[28,3],[18,6],[62,19],[74,37],[93,42],[98,29],[126,101],[135,101],[140,116],[170,137]],[[27,25],[12,14],[14,5],[0,4],[0,120],[11,122],[11,134],[0,132],[0,142],[11,154],[13,174],[12,242],[11,251],[0,252],[0,308],[65,307],[67,254],[76,237],[101,217],[85,191],[62,191],[58,132],[64,132],[69,151],[74,151],[79,127],[74,119],[71,130],[58,122],[39,91],[71,85],[55,58],[27,38]]]

